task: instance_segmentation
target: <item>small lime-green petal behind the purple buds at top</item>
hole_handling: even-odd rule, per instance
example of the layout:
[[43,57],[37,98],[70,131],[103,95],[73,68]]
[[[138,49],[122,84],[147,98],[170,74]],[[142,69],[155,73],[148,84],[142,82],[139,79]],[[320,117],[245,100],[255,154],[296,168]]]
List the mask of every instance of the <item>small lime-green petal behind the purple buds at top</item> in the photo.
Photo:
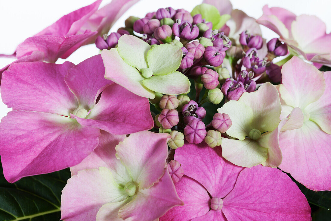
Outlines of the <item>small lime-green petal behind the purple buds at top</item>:
[[207,22],[213,23],[213,29],[220,29],[227,20],[231,18],[230,15],[225,14],[220,16],[219,11],[213,5],[201,4],[197,5],[191,12],[191,15],[201,14],[202,18]]

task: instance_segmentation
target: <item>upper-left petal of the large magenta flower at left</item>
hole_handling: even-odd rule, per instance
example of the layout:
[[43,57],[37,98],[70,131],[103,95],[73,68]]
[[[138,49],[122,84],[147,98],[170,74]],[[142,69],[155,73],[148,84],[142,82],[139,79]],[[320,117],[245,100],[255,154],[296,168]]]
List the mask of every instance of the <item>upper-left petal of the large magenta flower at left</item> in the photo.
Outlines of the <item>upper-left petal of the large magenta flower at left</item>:
[[78,107],[64,76],[73,67],[63,64],[22,62],[13,64],[2,75],[1,97],[18,111],[39,111],[69,116]]

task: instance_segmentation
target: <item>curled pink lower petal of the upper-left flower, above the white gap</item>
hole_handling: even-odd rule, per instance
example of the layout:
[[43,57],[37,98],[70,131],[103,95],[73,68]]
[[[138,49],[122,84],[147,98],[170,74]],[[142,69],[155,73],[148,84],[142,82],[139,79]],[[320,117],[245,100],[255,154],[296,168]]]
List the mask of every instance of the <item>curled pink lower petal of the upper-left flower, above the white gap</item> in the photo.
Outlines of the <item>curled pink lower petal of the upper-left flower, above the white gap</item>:
[[[96,34],[97,32],[87,32],[81,35],[71,35],[68,37],[52,35],[28,37],[17,47],[17,58],[29,55],[33,51],[42,51],[45,54],[45,61],[54,63],[59,57],[62,57],[63,54],[71,49],[71,47],[77,44],[80,45],[85,39]],[[75,49],[77,48],[78,47],[75,47]]]

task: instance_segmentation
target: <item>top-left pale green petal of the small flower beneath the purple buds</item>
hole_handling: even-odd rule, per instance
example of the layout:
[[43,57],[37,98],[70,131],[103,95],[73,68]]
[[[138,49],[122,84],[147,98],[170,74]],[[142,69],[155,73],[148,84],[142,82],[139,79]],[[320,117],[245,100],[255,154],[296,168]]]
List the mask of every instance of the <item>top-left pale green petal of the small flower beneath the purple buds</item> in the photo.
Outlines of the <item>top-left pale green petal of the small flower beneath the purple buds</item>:
[[123,60],[138,70],[147,68],[146,55],[151,46],[138,37],[123,35],[118,39],[118,54]]

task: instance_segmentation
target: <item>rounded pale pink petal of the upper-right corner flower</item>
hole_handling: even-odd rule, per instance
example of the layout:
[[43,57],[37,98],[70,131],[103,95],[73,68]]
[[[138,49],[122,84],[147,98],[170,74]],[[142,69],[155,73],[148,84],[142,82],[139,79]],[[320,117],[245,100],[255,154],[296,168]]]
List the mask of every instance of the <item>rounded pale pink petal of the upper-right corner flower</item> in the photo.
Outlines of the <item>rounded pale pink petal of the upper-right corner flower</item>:
[[[318,38],[324,37],[326,31],[326,25],[319,18],[312,15],[300,15],[296,18],[296,21],[292,23],[291,26],[292,35],[294,40],[296,40],[299,44],[299,47],[303,49],[306,53],[323,53],[319,52],[320,48],[323,47],[319,45],[319,47],[311,47],[310,44],[313,43],[314,46],[317,46]],[[330,39],[330,38],[329,38]],[[327,40],[327,39],[325,39]],[[327,43],[326,41],[324,43]],[[331,52],[331,48],[327,47],[331,44],[327,43],[325,49],[329,53]],[[308,48],[306,48],[308,46]],[[317,51],[316,51],[317,49]],[[325,51],[322,49],[322,51]]]

